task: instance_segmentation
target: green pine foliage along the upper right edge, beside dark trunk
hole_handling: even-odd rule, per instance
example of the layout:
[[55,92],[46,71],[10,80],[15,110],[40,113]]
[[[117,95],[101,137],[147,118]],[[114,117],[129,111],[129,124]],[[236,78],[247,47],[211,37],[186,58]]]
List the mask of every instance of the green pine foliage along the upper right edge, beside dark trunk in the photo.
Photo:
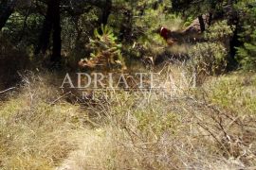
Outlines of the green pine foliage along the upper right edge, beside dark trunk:
[[238,4],[243,15],[240,41],[243,45],[237,49],[237,59],[245,70],[256,70],[256,3],[248,0]]

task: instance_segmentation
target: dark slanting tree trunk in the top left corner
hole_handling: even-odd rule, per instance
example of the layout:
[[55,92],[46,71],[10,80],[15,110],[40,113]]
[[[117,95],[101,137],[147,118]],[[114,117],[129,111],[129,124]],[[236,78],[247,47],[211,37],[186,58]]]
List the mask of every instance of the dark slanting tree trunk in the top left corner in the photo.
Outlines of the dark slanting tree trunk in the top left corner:
[[14,11],[17,0],[4,0],[1,3],[1,13],[0,13],[0,30],[6,25],[9,20],[9,16]]

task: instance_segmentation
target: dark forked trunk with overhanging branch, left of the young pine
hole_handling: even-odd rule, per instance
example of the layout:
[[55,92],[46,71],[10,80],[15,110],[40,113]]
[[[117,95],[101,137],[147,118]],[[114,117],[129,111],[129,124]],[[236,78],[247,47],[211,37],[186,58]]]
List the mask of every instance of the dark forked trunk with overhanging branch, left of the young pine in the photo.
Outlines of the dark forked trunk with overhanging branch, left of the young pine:
[[48,0],[46,1],[46,17],[42,27],[41,35],[39,38],[38,45],[35,49],[35,54],[42,52],[46,53],[50,44],[50,36],[52,33],[52,54],[51,61],[58,63],[61,60],[62,51],[62,39],[61,39],[61,12],[67,13],[68,16],[76,17],[82,15],[84,12],[88,12],[91,7],[101,8],[102,13],[100,18],[100,24],[106,25],[108,17],[112,11],[112,0],[104,1],[62,1],[61,0]]

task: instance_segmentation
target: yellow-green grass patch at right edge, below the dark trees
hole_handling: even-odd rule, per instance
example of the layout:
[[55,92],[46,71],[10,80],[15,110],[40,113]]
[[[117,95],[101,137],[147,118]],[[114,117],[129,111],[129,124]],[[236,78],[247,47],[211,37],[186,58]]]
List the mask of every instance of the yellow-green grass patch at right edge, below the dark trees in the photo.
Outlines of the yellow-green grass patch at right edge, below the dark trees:
[[209,99],[214,104],[241,114],[256,115],[256,76],[231,74],[210,81]]

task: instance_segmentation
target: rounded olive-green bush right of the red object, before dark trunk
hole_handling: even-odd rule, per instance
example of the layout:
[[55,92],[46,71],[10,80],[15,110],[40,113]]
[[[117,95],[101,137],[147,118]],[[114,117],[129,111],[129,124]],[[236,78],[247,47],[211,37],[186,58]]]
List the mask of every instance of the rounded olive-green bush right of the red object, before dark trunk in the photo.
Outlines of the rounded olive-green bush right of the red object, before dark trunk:
[[[229,37],[232,26],[226,20],[217,22],[205,32],[208,42],[199,42],[190,50],[191,67],[198,76],[220,75],[225,72],[228,63]],[[228,44],[227,44],[228,43]]]

